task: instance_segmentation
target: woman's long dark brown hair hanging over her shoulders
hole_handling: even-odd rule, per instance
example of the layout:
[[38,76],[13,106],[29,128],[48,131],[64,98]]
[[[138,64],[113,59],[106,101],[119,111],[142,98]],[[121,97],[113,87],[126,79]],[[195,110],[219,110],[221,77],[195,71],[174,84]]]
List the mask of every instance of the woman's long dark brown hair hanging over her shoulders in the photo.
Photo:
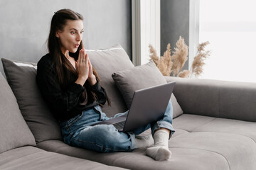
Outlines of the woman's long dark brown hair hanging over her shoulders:
[[[72,64],[68,61],[68,59],[61,52],[60,47],[60,39],[55,36],[56,31],[63,30],[68,20],[83,20],[83,17],[80,13],[76,13],[70,9],[60,9],[55,12],[53,18],[50,22],[50,33],[48,37],[48,51],[51,57],[53,57],[53,68],[56,71],[58,82],[61,89],[65,89],[68,85],[68,78],[70,77],[70,72],[75,74],[78,77],[78,72],[73,68]],[[83,48],[82,40],[78,47],[77,52],[70,52],[70,56],[74,57],[75,60],[78,60],[79,51]],[[69,72],[66,72],[68,69]],[[95,75],[96,79],[100,81],[100,77],[97,74],[96,70],[92,68],[92,72]],[[83,103],[86,104],[87,101],[95,101],[97,100],[96,94],[90,90],[90,84],[88,81],[85,81],[85,89],[83,92]],[[110,106],[110,98],[107,96],[107,103]],[[102,106],[100,104],[100,106]]]

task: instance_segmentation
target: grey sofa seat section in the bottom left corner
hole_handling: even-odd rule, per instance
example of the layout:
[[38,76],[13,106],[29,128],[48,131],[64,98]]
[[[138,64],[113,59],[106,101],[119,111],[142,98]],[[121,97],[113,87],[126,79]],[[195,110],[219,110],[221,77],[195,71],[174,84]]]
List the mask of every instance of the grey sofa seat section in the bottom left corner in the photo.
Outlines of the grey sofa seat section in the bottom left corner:
[[20,147],[0,154],[0,169],[120,169],[85,159]]

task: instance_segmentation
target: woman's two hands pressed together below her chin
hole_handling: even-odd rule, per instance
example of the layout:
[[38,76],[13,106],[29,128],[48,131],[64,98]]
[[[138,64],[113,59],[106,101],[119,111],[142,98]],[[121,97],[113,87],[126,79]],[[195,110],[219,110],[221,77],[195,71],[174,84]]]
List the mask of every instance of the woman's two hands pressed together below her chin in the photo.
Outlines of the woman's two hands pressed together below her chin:
[[87,79],[91,86],[97,83],[96,77],[92,72],[92,64],[84,48],[79,52],[78,61],[75,62],[75,69],[78,72],[78,79],[75,83],[83,86]]

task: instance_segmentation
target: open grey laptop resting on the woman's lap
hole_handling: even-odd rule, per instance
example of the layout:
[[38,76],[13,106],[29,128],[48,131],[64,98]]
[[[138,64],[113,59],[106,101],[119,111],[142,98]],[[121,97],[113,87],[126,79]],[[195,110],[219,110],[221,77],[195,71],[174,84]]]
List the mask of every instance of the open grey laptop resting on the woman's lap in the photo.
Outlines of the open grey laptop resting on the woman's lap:
[[[132,104],[127,115],[112,118],[93,125],[114,125],[117,130],[130,132],[164,117],[176,81],[152,86],[134,92]],[[93,126],[92,125],[92,126]]]

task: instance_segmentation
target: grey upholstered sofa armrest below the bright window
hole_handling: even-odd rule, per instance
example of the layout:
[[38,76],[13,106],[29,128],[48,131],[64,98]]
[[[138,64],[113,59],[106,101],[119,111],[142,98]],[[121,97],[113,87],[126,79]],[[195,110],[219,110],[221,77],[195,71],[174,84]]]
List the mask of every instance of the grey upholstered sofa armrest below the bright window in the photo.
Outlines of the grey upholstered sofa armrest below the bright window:
[[184,113],[256,122],[256,83],[165,78]]

